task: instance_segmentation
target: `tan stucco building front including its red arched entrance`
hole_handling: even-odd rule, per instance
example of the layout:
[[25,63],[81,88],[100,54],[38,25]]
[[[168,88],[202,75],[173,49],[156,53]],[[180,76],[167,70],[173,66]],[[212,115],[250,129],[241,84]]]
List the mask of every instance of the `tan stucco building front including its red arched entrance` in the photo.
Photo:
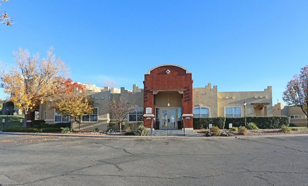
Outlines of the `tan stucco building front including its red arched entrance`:
[[[132,91],[95,86],[86,87],[86,90],[94,100],[94,111],[83,117],[83,130],[107,130],[107,123],[115,119],[105,105],[110,98],[120,97],[126,97],[135,107],[127,115],[126,123],[144,122],[145,127],[150,128],[151,120],[143,118],[147,110],[155,115],[153,127],[162,130],[182,129],[183,122],[185,129],[192,129],[192,118],[181,118],[183,114],[193,114],[194,117],[273,115],[272,87],[252,92],[218,92],[218,87],[212,87],[211,84],[194,88],[192,73],[173,64],[160,65],[145,73],[144,89],[133,85]],[[41,119],[46,123],[68,122],[69,117],[63,117],[50,109],[51,103],[52,100],[48,100],[41,104]],[[76,123],[74,126],[77,127]]]

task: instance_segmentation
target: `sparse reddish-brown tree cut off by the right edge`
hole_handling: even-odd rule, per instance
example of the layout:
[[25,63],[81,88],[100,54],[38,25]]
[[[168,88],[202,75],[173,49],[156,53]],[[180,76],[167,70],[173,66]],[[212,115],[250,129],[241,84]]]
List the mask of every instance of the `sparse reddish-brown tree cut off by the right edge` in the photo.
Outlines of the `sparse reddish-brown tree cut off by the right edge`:
[[308,128],[308,65],[301,68],[300,74],[287,83],[282,99],[287,105],[298,106],[307,116]]

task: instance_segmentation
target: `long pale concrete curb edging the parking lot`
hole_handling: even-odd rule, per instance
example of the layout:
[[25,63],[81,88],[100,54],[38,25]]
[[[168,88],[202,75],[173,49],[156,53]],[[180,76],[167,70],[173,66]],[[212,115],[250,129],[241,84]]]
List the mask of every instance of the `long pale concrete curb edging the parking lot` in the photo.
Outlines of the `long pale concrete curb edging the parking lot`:
[[111,135],[80,135],[80,134],[53,134],[53,133],[21,133],[2,132],[0,135],[24,135],[24,136],[59,136],[59,137],[89,137],[89,138],[117,138],[117,139],[249,139],[249,138],[277,138],[277,137],[308,137],[308,134],[277,134],[263,136],[111,136]]

